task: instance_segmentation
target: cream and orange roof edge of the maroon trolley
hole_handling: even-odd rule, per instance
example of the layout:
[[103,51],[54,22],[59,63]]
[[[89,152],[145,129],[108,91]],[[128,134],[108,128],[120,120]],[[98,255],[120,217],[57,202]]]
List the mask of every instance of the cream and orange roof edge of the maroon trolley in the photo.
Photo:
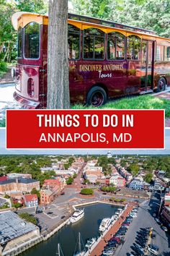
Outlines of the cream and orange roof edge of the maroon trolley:
[[[48,15],[37,14],[32,12],[16,12],[12,15],[12,25],[14,27],[14,30],[18,30],[19,22],[21,22],[22,17],[24,16],[26,16],[26,21],[23,22],[22,27],[24,27],[24,25],[27,25],[27,23],[32,21],[36,21],[36,22],[39,22],[40,24],[48,25]],[[79,28],[81,28],[81,24],[83,24],[84,27],[86,28],[91,26],[92,27],[99,26],[101,30],[107,31],[106,33],[109,33],[115,30],[120,33],[124,33],[124,35],[125,33],[127,33],[127,35],[135,34],[135,35],[138,35],[140,38],[153,39],[153,40],[156,40],[156,38],[160,38],[168,41],[170,40],[169,38],[163,38],[161,36],[156,35],[156,33],[154,33],[151,30],[145,30],[139,27],[132,27],[130,25],[123,25],[116,22],[101,20],[94,17],[87,17],[87,16],[78,15],[78,14],[68,13],[68,22],[72,25],[79,26]]]

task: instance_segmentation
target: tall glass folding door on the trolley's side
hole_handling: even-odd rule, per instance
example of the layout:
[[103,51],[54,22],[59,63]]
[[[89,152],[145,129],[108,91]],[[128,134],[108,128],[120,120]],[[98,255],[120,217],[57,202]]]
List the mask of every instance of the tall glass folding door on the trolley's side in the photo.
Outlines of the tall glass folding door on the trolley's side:
[[140,93],[153,90],[154,41],[142,40]]

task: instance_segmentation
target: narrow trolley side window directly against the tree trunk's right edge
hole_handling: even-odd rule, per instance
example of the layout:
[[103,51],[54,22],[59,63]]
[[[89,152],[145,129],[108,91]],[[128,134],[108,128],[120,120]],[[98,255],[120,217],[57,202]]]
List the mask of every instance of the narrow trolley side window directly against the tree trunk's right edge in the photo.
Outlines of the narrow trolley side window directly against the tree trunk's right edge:
[[73,25],[68,25],[68,56],[69,59],[80,56],[80,30]]

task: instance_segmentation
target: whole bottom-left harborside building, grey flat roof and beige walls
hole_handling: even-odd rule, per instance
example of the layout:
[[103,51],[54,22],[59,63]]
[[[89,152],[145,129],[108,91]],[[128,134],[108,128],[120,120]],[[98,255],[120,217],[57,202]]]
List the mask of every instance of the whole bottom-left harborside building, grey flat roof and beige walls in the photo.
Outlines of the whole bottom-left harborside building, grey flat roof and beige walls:
[[0,212],[0,255],[14,255],[22,247],[40,239],[40,229],[6,210]]

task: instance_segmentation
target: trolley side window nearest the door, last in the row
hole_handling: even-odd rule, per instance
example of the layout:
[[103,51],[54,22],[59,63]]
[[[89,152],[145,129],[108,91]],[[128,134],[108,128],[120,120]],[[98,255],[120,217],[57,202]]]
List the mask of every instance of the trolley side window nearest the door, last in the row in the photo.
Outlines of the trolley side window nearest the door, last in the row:
[[140,59],[141,40],[138,36],[129,35],[127,38],[127,59]]

